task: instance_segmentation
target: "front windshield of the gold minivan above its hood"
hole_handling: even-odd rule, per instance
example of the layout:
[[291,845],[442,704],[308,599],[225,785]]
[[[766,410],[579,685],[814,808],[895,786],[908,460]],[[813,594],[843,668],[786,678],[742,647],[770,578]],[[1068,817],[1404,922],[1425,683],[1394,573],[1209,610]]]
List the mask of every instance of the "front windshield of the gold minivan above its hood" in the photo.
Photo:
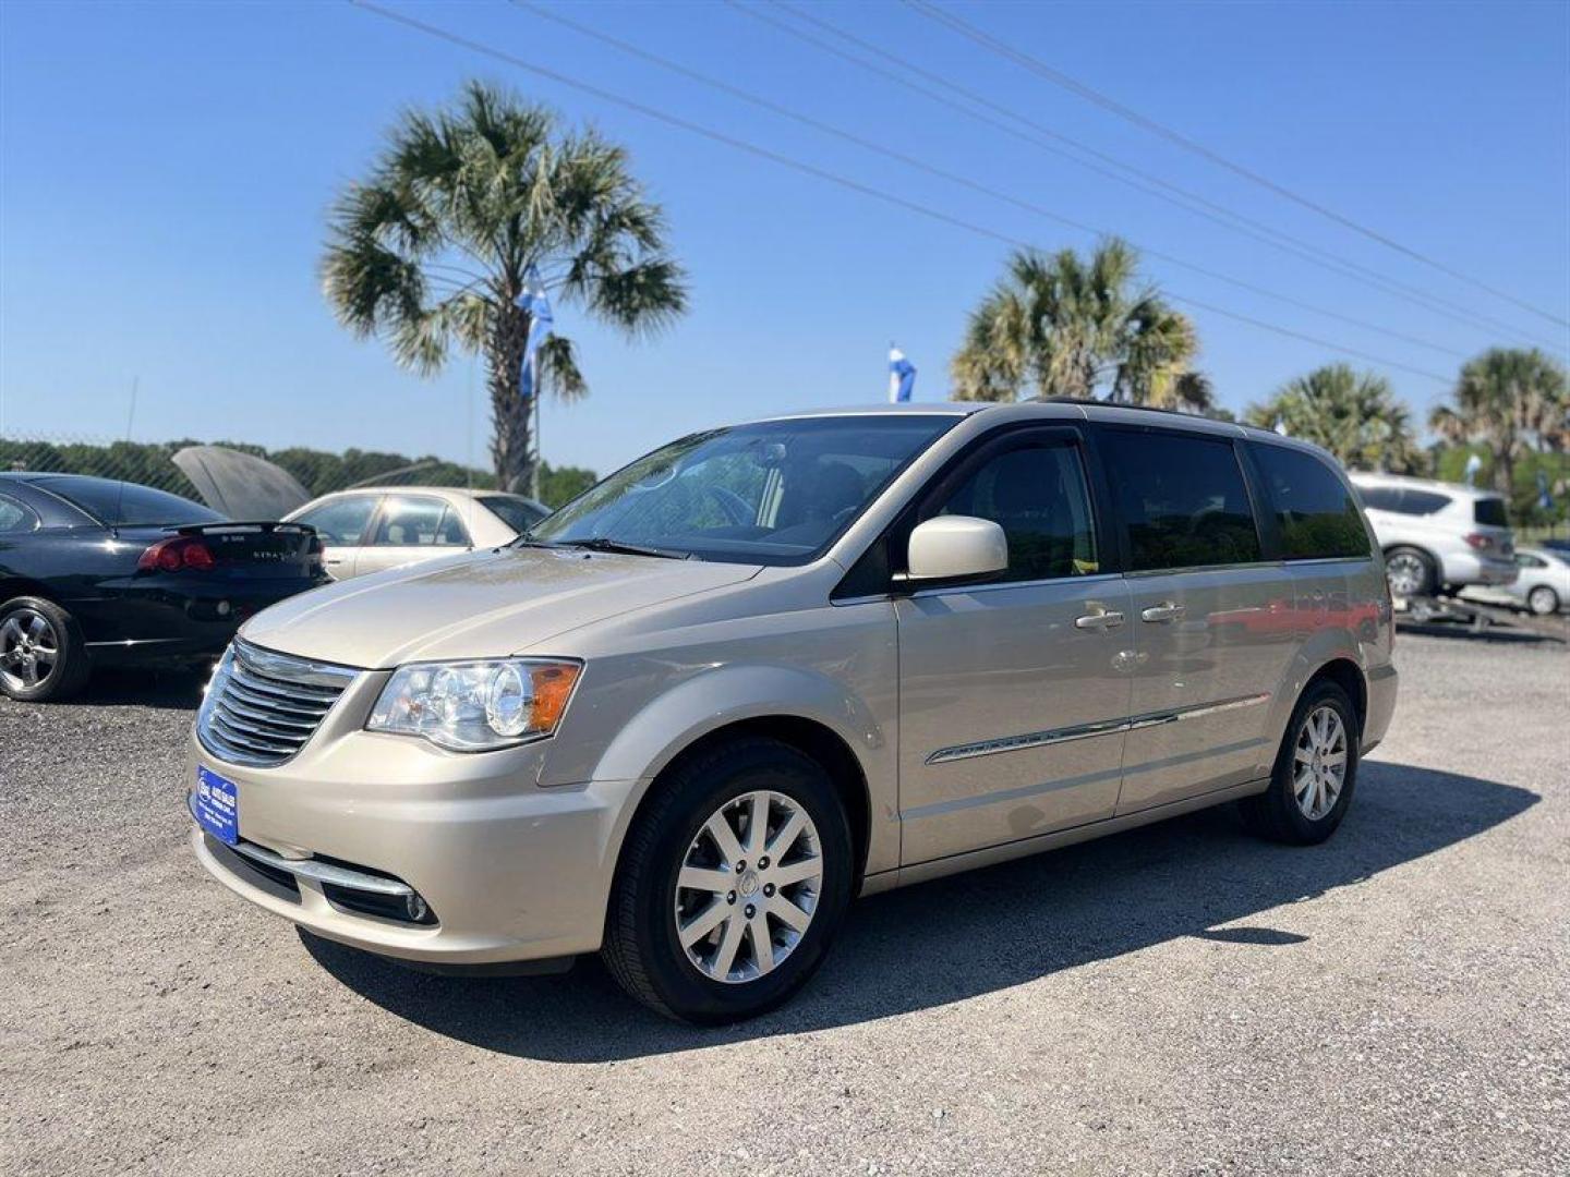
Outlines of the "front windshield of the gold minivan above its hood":
[[804,563],[958,416],[769,421],[694,433],[639,458],[528,540]]

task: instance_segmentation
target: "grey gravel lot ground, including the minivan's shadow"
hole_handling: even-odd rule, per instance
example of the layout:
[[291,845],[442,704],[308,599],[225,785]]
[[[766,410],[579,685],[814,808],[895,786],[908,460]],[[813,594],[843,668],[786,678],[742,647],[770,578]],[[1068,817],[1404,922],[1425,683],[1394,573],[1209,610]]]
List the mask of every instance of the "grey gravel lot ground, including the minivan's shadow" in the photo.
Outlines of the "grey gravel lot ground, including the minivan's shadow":
[[1570,1168],[1570,654],[1402,636],[1324,847],[1214,810],[859,904],[744,1026],[455,981],[206,879],[198,684],[0,701],[0,1172]]

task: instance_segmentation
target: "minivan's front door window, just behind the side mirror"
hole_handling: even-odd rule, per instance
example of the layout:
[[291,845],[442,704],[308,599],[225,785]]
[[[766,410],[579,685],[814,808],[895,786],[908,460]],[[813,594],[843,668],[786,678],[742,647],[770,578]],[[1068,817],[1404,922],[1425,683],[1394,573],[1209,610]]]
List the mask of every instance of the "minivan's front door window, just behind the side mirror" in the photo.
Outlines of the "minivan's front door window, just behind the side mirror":
[[1010,581],[1101,570],[1085,466],[1072,444],[1027,444],[986,460],[934,512],[991,519],[1008,537]]

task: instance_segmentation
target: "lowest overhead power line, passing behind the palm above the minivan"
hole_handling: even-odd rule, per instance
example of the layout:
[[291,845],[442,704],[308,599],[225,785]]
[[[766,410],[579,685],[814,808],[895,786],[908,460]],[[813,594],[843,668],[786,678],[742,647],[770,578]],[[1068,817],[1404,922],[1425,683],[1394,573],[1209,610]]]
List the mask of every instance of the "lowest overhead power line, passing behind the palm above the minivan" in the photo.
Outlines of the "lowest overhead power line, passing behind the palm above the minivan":
[[[517,69],[523,69],[523,71],[526,71],[529,74],[534,74],[537,77],[548,78],[551,82],[556,82],[557,85],[567,86],[570,89],[576,89],[576,91],[579,91],[582,94],[589,94],[592,97],[597,97],[597,99],[603,100],[603,102],[611,102],[614,105],[625,107],[626,110],[636,111],[636,113],[644,115],[645,118],[652,118],[652,119],[655,119],[658,122],[664,122],[666,126],[677,127],[677,129],[685,130],[685,132],[688,132],[691,135],[699,135],[699,137],[711,140],[714,143],[721,143],[721,144],[724,144],[727,148],[733,148],[736,151],[747,152],[749,155],[757,155],[758,159],[769,160],[771,163],[777,163],[777,165],[780,165],[783,168],[790,168],[793,171],[799,171],[799,173],[802,173],[805,176],[813,176],[816,179],[827,180],[829,184],[838,185],[842,188],[848,188],[849,191],[860,193],[862,196],[870,196],[870,198],[873,198],[876,201],[882,201],[884,204],[892,204],[892,206],[895,206],[898,209],[904,209],[907,212],[914,212],[914,213],[917,213],[920,217],[926,217],[928,220],[934,220],[934,221],[939,221],[942,224],[953,226],[956,229],[964,229],[964,231],[977,234],[980,237],[986,237],[986,239],[994,240],[994,242],[1002,242],[1003,245],[1011,245],[1011,246],[1016,246],[1016,248],[1027,248],[1027,250],[1028,248],[1035,248],[1031,242],[1027,242],[1027,240],[1022,240],[1022,239],[1017,239],[1017,237],[1011,237],[1010,234],[999,232],[995,229],[989,229],[984,224],[977,224],[975,221],[964,220],[962,217],[955,217],[955,215],[947,213],[947,212],[944,212],[940,209],[933,209],[931,206],[918,204],[917,201],[911,201],[911,199],[906,199],[903,196],[896,196],[896,195],[893,195],[890,191],[884,191],[882,188],[874,188],[870,184],[862,184],[860,180],[854,180],[854,179],[849,179],[846,176],[840,176],[837,173],[827,171],[826,168],[820,168],[820,166],[816,166],[813,163],[807,163],[805,160],[798,160],[798,159],[794,159],[791,155],[783,155],[783,154],[780,154],[777,151],[772,151],[769,148],[761,148],[757,143],[750,143],[747,140],[736,138],[735,135],[727,135],[725,132],[713,130],[713,129],[705,127],[705,126],[702,126],[699,122],[692,122],[691,119],[685,119],[680,115],[672,115],[672,113],[659,110],[656,107],[650,107],[647,102],[641,102],[637,99],[631,99],[631,97],[626,97],[623,94],[617,94],[614,91],[609,91],[609,89],[604,89],[601,86],[597,86],[597,85],[593,85],[590,82],[582,82],[579,78],[575,78],[575,77],[570,77],[567,74],[562,74],[560,71],[550,69],[548,66],[540,66],[540,64],[535,64],[532,61],[526,61],[526,60],[523,60],[523,58],[520,58],[520,56],[517,56],[513,53],[509,53],[506,50],[495,49],[493,46],[487,46],[487,44],[484,44],[480,41],[474,41],[471,38],[466,38],[462,33],[454,33],[451,30],[440,28],[438,25],[425,24],[424,20],[419,20],[416,17],[405,16],[403,13],[396,13],[396,11],[389,9],[389,8],[383,8],[378,3],[372,3],[372,0],[347,0],[347,3],[350,3],[350,5],[356,6],[356,8],[361,8],[361,9],[367,11],[367,13],[372,13],[374,16],[380,16],[385,20],[392,20],[394,24],[400,24],[400,25],[407,27],[407,28],[413,28],[413,30],[416,30],[419,33],[424,33],[425,36],[435,38],[438,41],[446,41],[447,44],[458,46],[460,49],[468,49],[469,52],[495,58],[496,61],[502,61],[506,64],[510,64],[510,66],[513,66]],[[1236,312],[1231,312],[1231,311],[1221,311],[1220,308],[1210,308],[1209,304],[1198,303],[1195,300],[1188,300],[1188,298],[1184,298],[1184,297],[1176,295],[1176,293],[1173,293],[1171,297],[1178,298],[1181,301],[1193,303],[1195,306],[1203,306],[1207,311],[1214,309],[1217,314],[1223,314],[1226,317],[1237,319],[1239,322],[1250,323],[1250,325],[1258,326],[1258,328],[1265,330],[1265,331],[1273,331],[1275,334],[1286,336],[1289,339],[1300,339],[1300,341],[1305,341],[1305,342],[1316,344],[1317,347],[1330,348],[1331,352],[1341,352],[1344,355],[1356,356],[1360,359],[1369,359],[1369,361],[1377,363],[1377,364],[1385,364],[1386,367],[1394,367],[1394,369],[1399,369],[1402,372],[1410,372],[1413,375],[1424,377],[1427,380],[1435,380],[1435,381],[1438,381],[1441,384],[1449,384],[1451,383],[1449,377],[1440,375],[1438,372],[1429,372],[1426,369],[1413,367],[1411,364],[1404,364],[1404,363],[1396,361],[1396,359],[1388,359],[1385,356],[1378,356],[1378,355],[1374,355],[1371,352],[1361,352],[1358,348],[1347,347],[1344,344],[1336,344],[1336,342],[1331,342],[1328,339],[1319,339],[1317,336],[1309,336],[1309,334],[1305,334],[1305,333],[1300,333],[1300,331],[1294,331],[1292,328],[1278,326],[1278,325],[1269,323],[1269,322],[1265,322],[1262,319],[1250,319],[1247,315],[1240,315],[1240,314],[1236,314]]]

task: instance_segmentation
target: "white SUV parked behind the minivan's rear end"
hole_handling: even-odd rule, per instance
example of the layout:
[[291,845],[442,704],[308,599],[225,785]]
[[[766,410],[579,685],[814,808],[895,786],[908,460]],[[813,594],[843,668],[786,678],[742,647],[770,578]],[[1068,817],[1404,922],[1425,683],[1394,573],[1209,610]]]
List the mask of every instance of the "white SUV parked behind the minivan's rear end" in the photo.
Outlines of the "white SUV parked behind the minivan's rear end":
[[1454,482],[1353,474],[1396,596],[1432,596],[1515,581],[1504,497]]

